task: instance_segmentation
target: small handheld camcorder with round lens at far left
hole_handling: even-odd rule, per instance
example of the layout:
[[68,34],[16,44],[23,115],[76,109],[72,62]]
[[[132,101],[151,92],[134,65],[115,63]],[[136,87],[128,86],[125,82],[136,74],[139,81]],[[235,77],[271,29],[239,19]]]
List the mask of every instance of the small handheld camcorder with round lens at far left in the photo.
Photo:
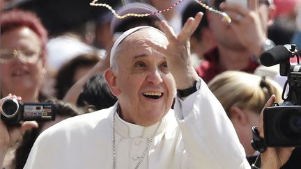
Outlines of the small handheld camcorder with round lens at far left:
[[24,121],[55,120],[54,103],[22,103],[15,98],[3,100],[1,104],[1,120],[8,125],[20,124]]

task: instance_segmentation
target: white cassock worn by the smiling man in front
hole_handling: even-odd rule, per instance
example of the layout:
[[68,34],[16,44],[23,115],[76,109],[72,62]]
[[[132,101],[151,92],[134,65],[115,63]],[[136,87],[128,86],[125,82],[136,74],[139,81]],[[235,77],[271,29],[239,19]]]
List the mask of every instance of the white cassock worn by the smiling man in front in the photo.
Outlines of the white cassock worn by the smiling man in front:
[[[113,168],[113,116],[116,168],[135,168],[157,124],[130,124],[111,108],[69,118],[45,130],[33,145],[26,169]],[[245,150],[222,105],[201,81],[200,90],[164,116],[139,168],[250,168]]]

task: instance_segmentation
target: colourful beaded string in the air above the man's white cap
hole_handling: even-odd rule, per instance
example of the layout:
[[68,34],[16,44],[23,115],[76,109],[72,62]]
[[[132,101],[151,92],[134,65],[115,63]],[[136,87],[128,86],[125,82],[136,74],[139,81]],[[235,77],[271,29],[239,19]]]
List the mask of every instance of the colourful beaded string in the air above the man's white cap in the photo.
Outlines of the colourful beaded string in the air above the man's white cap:
[[[177,6],[182,1],[184,1],[184,0],[178,0],[176,3],[173,3],[173,5],[170,6],[169,8],[164,9],[164,10],[158,10],[157,12],[154,12],[154,13],[143,13],[143,14],[127,13],[125,15],[118,15],[118,13],[116,13],[116,11],[113,8],[111,8],[111,6],[109,6],[107,3],[97,3],[98,0],[93,0],[90,3],[90,6],[102,6],[102,7],[108,8],[109,10],[111,10],[111,13],[113,13],[116,18],[124,19],[125,17],[147,17],[149,15],[155,15],[156,13],[164,13],[167,10],[171,10],[173,7]],[[226,13],[224,13],[222,11],[219,11],[219,10],[216,10],[216,9],[213,9],[210,6],[207,6],[205,3],[202,3],[199,0],[194,0],[194,1],[196,1],[196,3],[199,3],[199,5],[201,5],[203,8],[206,8],[206,10],[210,10],[213,13],[217,13],[219,15],[222,15],[222,17],[224,17],[224,19],[226,19],[227,22],[231,23],[231,18]]]

